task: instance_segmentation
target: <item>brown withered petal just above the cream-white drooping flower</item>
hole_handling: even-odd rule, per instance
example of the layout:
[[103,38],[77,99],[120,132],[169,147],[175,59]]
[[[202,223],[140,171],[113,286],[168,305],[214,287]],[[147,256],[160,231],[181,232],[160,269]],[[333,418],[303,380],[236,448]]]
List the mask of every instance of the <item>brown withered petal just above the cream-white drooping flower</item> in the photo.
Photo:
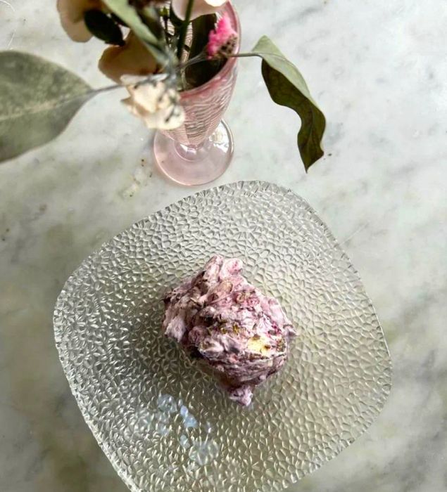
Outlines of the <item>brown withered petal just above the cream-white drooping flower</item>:
[[124,46],[106,48],[98,63],[99,70],[109,79],[120,82],[122,75],[149,75],[157,63],[151,52],[131,31]]

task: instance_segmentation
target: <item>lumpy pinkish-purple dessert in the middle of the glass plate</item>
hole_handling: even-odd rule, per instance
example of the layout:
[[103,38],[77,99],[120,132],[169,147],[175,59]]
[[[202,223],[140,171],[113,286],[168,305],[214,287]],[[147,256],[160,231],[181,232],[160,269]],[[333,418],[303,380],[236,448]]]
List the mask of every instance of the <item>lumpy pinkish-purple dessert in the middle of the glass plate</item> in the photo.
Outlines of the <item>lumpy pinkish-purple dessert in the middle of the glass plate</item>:
[[241,275],[242,261],[216,255],[164,299],[165,335],[212,370],[229,398],[248,406],[253,389],[287,360],[296,332],[279,302]]

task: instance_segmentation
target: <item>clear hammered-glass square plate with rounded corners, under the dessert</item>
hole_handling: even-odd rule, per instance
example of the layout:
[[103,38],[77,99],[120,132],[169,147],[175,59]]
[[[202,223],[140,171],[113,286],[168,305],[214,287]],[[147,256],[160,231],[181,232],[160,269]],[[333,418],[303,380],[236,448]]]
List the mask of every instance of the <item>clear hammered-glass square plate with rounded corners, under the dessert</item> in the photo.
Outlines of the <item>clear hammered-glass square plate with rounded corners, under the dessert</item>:
[[[243,259],[299,331],[248,408],[160,330],[163,294],[215,253]],[[270,183],[201,191],[106,242],[65,283],[54,329],[84,419],[132,491],[281,491],[362,434],[391,388],[357,271],[313,209]]]

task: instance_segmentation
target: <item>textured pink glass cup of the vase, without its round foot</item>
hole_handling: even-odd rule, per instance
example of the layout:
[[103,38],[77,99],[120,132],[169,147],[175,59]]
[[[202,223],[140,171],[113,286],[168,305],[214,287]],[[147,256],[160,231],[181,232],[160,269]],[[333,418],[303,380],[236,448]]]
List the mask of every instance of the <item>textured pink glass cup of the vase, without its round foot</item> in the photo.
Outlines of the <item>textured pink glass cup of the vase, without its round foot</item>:
[[[239,33],[237,14],[230,3],[225,4],[219,15],[227,15],[232,28]],[[201,145],[214,133],[227,110],[236,83],[237,59],[227,60],[226,65],[207,84],[180,93],[184,124],[173,130],[161,131],[163,135],[183,145]]]

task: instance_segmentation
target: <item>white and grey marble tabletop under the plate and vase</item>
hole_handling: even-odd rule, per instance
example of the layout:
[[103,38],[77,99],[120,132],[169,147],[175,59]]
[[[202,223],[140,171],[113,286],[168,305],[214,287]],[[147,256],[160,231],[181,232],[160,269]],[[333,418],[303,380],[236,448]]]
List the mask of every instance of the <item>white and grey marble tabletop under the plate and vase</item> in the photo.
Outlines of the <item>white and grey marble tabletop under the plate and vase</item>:
[[[46,56],[94,86],[101,43],[71,42],[46,0],[0,0],[0,46]],[[290,491],[447,489],[447,5],[441,0],[236,1],[244,46],[270,34],[325,110],[326,157],[309,174],[294,114],[241,60],[218,181],[263,179],[320,213],[363,277],[389,341],[394,387],[377,422]],[[26,128],[23,131],[27,131]],[[57,141],[0,164],[0,491],[124,492],[84,425],[51,316],[99,246],[194,190],[153,169],[149,135],[118,104],[88,103]]]

